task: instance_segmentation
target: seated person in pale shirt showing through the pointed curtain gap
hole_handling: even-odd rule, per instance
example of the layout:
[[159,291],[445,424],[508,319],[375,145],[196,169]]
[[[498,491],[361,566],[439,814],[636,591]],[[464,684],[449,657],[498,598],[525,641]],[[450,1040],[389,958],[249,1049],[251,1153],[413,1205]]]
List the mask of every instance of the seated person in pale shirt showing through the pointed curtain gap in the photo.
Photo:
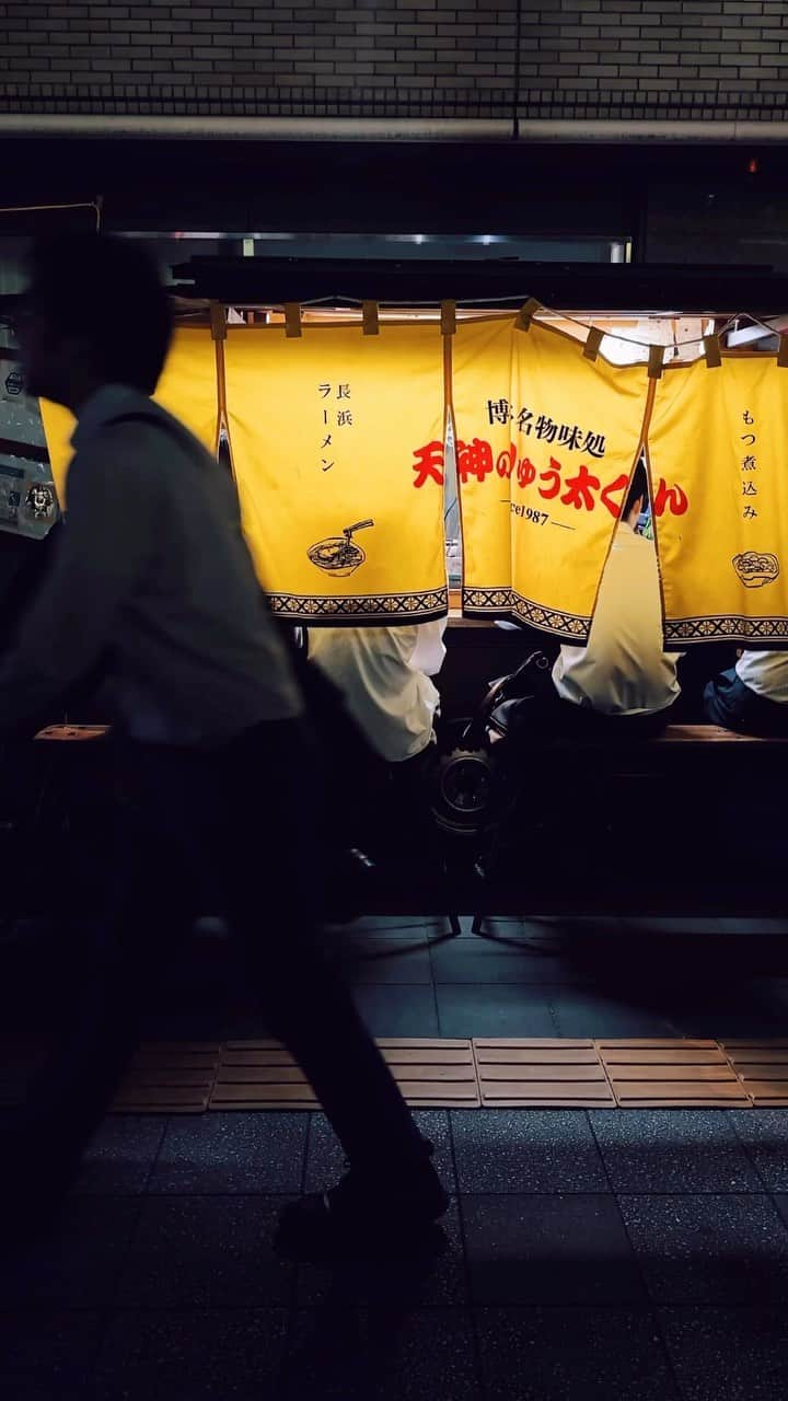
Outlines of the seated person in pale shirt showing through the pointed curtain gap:
[[562,723],[572,729],[617,736],[658,733],[669,723],[679,695],[680,654],[663,651],[662,644],[655,545],[635,534],[646,504],[646,471],[638,462],[602,576],[587,646],[562,646],[552,668],[555,691],[565,702]]

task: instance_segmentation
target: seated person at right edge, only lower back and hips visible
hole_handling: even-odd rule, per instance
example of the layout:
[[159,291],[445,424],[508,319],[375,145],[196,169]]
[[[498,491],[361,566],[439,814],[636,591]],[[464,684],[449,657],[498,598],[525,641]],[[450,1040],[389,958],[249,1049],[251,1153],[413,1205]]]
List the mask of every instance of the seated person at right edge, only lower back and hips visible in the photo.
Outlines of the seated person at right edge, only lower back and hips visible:
[[726,730],[788,736],[788,651],[742,651],[707,685],[704,710]]

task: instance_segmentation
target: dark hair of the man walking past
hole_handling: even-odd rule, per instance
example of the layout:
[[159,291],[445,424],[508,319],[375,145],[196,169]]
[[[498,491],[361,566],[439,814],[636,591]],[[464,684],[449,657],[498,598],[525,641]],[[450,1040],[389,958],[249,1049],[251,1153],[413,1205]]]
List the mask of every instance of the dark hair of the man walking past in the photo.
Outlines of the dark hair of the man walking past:
[[36,242],[28,259],[29,304],[87,346],[107,382],[153,394],[172,335],[157,268],[136,240],[66,234]]

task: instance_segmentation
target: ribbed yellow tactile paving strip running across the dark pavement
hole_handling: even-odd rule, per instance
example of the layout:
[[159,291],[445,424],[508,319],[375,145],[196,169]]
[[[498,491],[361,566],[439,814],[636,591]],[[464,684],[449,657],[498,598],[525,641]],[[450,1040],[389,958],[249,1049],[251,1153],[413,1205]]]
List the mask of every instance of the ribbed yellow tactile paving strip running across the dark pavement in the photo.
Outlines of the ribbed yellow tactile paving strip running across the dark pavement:
[[[788,1108],[788,1038],[381,1038],[414,1108]],[[17,1104],[41,1037],[0,1038],[0,1108]],[[272,1040],[146,1042],[112,1110],[313,1110],[315,1098]]]

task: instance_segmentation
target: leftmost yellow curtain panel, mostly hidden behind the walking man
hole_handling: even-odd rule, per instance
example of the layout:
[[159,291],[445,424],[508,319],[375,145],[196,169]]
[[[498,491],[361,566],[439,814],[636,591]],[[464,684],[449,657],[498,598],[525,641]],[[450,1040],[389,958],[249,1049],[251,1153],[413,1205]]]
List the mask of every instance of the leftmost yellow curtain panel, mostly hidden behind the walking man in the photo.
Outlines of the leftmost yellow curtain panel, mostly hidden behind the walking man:
[[[119,331],[122,335],[122,331]],[[216,347],[210,331],[205,328],[178,328],[161,378],[153,395],[170,413],[205,443],[210,453],[216,451],[219,433],[219,408],[216,392]],[[74,455],[72,433],[74,417],[60,403],[41,399],[41,416],[46,448],[52,464],[52,476],[57,488],[60,506],[66,502],[66,478]]]

